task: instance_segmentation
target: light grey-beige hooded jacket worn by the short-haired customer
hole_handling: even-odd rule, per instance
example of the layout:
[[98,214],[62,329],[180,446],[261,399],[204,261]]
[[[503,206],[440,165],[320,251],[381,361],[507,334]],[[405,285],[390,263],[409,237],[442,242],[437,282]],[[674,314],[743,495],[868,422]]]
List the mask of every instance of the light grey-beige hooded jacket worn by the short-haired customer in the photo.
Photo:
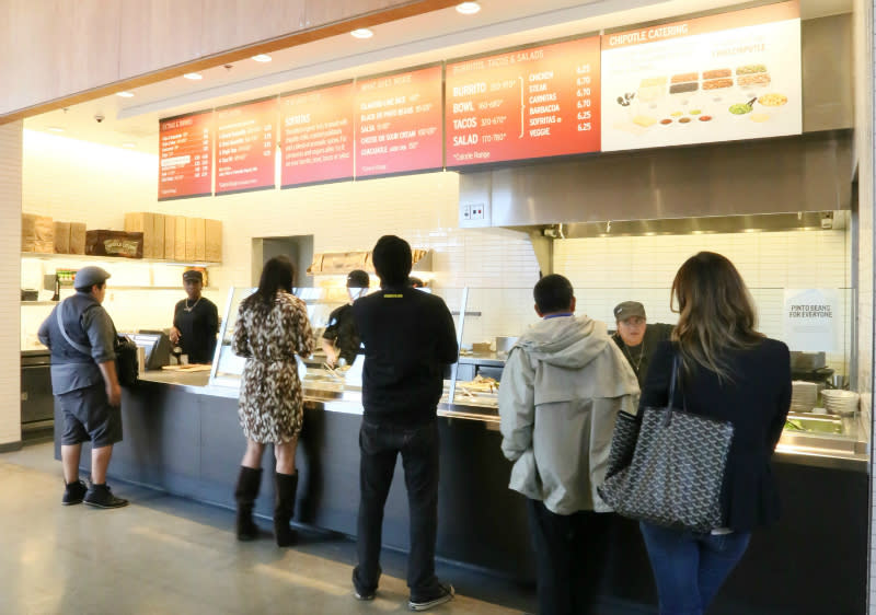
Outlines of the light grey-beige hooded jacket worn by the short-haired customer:
[[596,488],[618,413],[636,414],[638,393],[604,323],[557,316],[533,325],[499,386],[502,451],[515,462],[508,487],[557,514],[611,511]]

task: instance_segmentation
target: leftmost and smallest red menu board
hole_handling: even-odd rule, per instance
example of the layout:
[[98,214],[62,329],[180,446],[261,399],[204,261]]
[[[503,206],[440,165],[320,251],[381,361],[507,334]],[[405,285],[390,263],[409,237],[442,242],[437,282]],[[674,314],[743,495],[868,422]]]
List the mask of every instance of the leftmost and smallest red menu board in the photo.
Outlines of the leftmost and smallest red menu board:
[[158,199],[212,194],[212,111],[159,123]]

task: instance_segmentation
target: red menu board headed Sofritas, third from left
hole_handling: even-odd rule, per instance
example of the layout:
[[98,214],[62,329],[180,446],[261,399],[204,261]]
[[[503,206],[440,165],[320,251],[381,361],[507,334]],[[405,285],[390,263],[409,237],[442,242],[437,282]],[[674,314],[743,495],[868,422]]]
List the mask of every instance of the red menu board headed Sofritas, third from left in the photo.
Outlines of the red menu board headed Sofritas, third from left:
[[353,177],[353,82],[280,97],[284,188]]

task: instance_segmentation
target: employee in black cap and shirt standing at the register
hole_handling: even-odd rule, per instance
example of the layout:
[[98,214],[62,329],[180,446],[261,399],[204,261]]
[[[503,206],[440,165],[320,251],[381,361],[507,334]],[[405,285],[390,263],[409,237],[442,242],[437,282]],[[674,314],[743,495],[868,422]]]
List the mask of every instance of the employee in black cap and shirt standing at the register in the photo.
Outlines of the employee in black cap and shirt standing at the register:
[[211,363],[219,333],[219,311],[216,304],[203,297],[204,275],[189,270],[183,274],[186,299],[173,310],[171,344],[180,346],[189,363]]

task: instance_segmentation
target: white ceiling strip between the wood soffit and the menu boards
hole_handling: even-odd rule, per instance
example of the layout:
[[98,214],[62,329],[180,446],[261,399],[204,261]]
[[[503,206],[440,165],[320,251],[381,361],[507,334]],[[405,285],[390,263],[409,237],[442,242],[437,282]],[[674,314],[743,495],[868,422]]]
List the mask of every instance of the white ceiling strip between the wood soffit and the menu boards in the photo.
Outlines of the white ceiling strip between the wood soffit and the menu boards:
[[[734,0],[480,0],[475,15],[443,9],[201,71],[200,81],[174,78],[25,119],[30,130],[158,153],[159,119],[331,83],[563,36],[626,28],[678,15],[768,2]],[[846,13],[852,0],[800,0],[804,19]],[[103,116],[96,121],[95,116]]]

